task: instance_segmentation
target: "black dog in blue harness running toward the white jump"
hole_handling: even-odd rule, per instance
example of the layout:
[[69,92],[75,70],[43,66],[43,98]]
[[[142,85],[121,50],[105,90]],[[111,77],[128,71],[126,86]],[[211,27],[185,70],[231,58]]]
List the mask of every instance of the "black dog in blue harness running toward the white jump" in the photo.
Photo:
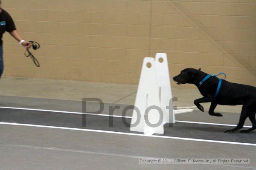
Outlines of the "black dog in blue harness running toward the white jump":
[[[243,105],[238,125],[231,130],[226,130],[225,133],[233,133],[241,129],[247,117],[249,117],[253,127],[248,130],[241,130],[241,132],[249,133],[256,129],[256,87],[222,80],[218,93],[216,89],[220,79],[216,76],[207,76],[208,74],[201,71],[201,68],[199,68],[199,70],[186,68],[181,71],[179,75],[173,77],[173,80],[177,82],[178,85],[185,83],[196,85],[204,97],[196,99],[194,103],[200,111],[204,112],[204,107],[200,105],[200,103],[211,102],[209,108],[209,115],[211,116],[222,116],[221,113],[214,112],[217,105]],[[205,77],[208,79],[202,83]]]

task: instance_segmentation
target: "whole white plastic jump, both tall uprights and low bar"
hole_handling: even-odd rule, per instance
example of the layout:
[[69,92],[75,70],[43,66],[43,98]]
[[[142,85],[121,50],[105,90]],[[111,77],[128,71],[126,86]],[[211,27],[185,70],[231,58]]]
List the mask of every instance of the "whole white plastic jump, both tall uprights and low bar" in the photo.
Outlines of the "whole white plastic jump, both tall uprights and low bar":
[[[155,59],[144,58],[134,106],[130,130],[148,135],[163,134],[164,124],[175,123],[175,113],[193,111],[192,109],[173,110],[172,89],[165,53],[157,53]],[[166,106],[169,108],[167,109]]]

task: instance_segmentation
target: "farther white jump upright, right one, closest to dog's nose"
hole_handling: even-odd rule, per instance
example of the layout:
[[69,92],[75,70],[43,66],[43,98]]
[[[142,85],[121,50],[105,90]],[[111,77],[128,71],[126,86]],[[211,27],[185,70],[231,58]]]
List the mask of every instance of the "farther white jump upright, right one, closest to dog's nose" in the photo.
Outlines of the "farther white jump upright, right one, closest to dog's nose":
[[[164,113],[163,123],[175,123],[167,55],[165,53],[157,53],[155,57],[155,65],[157,85],[160,94],[160,105]],[[166,106],[169,106],[169,108],[166,108]]]

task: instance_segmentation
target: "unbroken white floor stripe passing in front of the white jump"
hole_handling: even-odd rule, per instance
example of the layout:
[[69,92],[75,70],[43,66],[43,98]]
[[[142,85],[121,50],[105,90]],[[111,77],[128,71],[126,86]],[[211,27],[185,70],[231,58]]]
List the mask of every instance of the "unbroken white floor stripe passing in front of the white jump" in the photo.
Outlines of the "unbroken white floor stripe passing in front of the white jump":
[[79,128],[71,128],[71,127],[29,125],[29,124],[6,123],[6,122],[0,122],[0,125],[16,125],[16,126],[28,126],[28,127],[45,127],[45,128],[65,129],[65,130],[79,130],[79,131],[87,131],[87,132],[112,133],[112,134],[119,134],[119,135],[144,136],[144,137],[154,137],[154,138],[164,138],[164,139],[179,139],[179,140],[186,140],[186,141],[197,141],[197,142],[212,142],[212,143],[239,144],[239,145],[256,146],[256,144],[252,144],[252,143],[215,141],[215,140],[193,139],[193,138],[181,138],[181,137],[173,137],[173,136],[144,135],[144,134],[136,134],[136,133],[124,133],[124,132],[115,132],[115,131],[107,131],[107,130],[93,130],[93,129],[79,129]]

